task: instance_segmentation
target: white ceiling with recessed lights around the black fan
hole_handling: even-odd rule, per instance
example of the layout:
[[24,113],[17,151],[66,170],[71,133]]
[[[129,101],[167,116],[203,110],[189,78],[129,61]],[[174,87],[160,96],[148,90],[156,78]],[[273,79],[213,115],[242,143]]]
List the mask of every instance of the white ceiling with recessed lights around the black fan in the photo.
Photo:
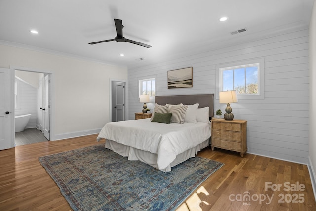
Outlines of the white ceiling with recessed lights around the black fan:
[[[207,46],[308,26],[314,0],[0,0],[0,44],[138,66]],[[220,22],[222,16],[228,21]],[[152,45],[89,42],[123,36]],[[230,32],[247,31],[231,35]],[[29,32],[36,29],[39,34]],[[125,56],[121,57],[119,54]],[[139,58],[144,58],[140,61]]]

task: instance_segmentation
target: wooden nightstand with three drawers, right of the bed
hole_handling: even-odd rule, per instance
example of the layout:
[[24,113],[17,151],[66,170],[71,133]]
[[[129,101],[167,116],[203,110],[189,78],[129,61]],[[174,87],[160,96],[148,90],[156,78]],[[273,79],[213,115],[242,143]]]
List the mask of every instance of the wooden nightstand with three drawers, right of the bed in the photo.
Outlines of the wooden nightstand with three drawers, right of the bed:
[[212,150],[214,147],[240,152],[247,152],[247,121],[212,119]]

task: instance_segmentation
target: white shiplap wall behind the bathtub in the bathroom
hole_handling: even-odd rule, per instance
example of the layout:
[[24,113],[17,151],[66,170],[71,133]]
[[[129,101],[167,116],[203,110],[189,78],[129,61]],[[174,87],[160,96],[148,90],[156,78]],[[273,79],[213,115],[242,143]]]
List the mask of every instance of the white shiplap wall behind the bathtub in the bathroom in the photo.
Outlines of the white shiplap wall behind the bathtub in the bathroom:
[[38,108],[38,89],[20,81],[20,109],[15,110],[15,116],[32,114],[25,128],[36,127]]

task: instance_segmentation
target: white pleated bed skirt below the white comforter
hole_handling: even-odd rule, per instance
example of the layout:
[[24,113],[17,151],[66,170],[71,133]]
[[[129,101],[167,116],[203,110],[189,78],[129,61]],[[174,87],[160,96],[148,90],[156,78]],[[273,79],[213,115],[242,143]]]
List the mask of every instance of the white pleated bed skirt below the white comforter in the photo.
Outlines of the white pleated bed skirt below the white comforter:
[[[201,149],[207,147],[210,145],[210,138],[207,139],[206,141],[202,142],[201,144],[188,149],[187,151],[179,154],[176,156],[176,158],[172,161],[171,164],[169,164],[165,169],[159,169],[163,172],[169,172],[171,171],[171,167],[174,167],[184,161],[186,161],[189,158],[195,157],[197,152],[200,151]],[[157,165],[157,154],[144,151],[144,150],[139,150],[134,147],[129,147],[123,144],[119,144],[117,142],[111,141],[111,140],[106,140],[105,141],[105,148],[110,149],[119,155],[123,157],[128,157],[128,160],[130,161],[141,161],[143,163],[146,163],[156,169],[158,169]]]

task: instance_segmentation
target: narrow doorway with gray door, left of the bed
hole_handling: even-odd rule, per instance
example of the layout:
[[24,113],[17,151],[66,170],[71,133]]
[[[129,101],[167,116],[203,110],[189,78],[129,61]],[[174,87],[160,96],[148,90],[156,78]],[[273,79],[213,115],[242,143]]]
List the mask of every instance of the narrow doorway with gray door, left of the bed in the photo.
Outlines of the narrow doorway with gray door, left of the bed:
[[125,120],[125,82],[111,81],[112,122]]

